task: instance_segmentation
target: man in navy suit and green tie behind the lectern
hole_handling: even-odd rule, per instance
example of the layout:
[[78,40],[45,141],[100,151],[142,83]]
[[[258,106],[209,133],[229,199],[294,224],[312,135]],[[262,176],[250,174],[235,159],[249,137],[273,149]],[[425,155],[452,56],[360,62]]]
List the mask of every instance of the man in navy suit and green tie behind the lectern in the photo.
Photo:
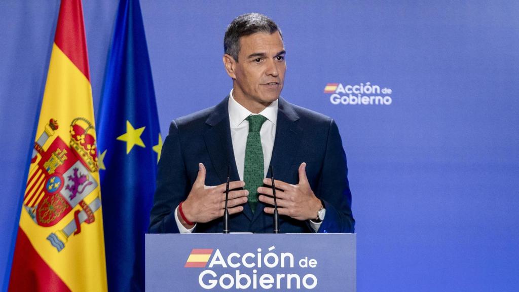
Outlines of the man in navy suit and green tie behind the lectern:
[[162,148],[152,233],[271,233],[272,166],[282,233],[353,232],[346,156],[335,122],[280,97],[285,50],[276,23],[234,19],[223,62],[233,79],[215,107],[176,119]]

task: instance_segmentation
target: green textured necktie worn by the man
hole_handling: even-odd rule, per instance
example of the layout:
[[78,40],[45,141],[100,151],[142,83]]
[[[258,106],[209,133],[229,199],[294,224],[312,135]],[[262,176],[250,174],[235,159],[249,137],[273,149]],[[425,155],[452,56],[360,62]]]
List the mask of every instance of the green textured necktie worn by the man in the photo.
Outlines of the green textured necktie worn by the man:
[[247,145],[245,145],[243,180],[245,181],[245,190],[249,191],[249,204],[252,213],[254,213],[258,202],[257,188],[263,185],[265,171],[260,129],[267,118],[262,115],[250,115],[245,120],[249,121],[249,135],[247,136]]

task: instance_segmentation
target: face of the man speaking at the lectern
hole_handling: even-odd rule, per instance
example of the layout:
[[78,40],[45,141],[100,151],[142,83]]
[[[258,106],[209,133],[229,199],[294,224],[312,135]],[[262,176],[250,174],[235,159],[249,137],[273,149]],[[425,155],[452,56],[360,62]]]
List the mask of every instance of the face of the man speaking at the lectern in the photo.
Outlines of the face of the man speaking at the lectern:
[[241,37],[238,60],[229,61],[232,70],[226,63],[234,79],[234,98],[252,112],[261,111],[278,99],[283,89],[286,63],[281,35],[260,32]]

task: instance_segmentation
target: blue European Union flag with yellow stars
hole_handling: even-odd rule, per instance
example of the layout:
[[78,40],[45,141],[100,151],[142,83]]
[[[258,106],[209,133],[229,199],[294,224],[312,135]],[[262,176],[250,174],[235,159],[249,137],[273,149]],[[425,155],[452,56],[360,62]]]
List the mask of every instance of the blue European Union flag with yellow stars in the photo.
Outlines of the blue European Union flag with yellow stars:
[[108,290],[143,291],[162,138],[138,0],[119,2],[98,118]]

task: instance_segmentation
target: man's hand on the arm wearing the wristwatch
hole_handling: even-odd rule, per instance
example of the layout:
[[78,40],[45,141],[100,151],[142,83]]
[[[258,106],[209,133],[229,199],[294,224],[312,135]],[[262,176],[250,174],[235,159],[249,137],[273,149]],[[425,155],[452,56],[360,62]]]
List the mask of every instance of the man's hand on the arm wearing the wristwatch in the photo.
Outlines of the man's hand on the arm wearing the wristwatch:
[[[263,180],[267,185],[272,185],[269,178]],[[299,166],[299,183],[289,184],[280,180],[275,180],[276,198],[278,212],[280,215],[290,216],[297,220],[316,219],[317,212],[321,209],[321,200],[313,194],[310,183],[306,177],[306,163]],[[281,191],[279,190],[281,189]],[[260,195],[258,199],[268,205],[274,206],[272,188],[258,188]],[[265,207],[264,211],[274,214],[274,208]]]

